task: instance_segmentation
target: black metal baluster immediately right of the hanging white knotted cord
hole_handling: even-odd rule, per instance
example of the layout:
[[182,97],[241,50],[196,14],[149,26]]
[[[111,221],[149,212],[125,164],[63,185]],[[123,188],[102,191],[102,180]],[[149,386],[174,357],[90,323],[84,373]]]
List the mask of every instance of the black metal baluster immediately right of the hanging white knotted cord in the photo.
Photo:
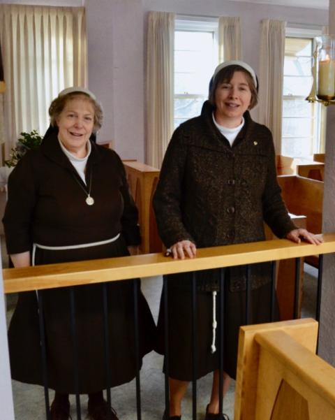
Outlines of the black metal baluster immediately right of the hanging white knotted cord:
[[219,359],[218,359],[218,417],[221,419],[223,413],[223,361],[225,351],[225,268],[220,268],[220,313],[219,313]]

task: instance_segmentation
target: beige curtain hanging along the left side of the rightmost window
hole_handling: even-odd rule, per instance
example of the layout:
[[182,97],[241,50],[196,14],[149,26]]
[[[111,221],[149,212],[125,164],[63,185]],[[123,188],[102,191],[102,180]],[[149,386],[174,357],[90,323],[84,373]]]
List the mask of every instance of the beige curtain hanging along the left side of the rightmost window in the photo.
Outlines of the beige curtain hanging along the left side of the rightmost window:
[[272,131],[276,154],[281,154],[285,22],[262,20],[260,39],[260,117]]

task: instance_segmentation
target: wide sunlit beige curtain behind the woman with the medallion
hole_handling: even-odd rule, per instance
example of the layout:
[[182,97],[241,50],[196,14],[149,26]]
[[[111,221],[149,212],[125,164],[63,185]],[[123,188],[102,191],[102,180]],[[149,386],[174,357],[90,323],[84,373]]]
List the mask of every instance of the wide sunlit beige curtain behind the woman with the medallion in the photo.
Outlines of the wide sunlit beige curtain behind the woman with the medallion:
[[22,131],[45,133],[47,110],[61,89],[87,85],[84,8],[0,5],[3,96],[2,159]]

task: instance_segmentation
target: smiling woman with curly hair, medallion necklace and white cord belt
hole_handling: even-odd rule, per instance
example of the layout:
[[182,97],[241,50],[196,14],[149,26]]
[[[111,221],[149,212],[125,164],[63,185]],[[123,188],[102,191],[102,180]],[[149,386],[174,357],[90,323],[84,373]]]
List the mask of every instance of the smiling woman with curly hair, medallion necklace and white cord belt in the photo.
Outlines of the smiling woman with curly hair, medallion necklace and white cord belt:
[[[62,91],[50,106],[51,128],[37,150],[29,150],[8,180],[3,224],[15,267],[126,256],[140,244],[137,209],[116,152],[90,140],[102,110],[89,90]],[[56,391],[51,420],[70,417],[69,393],[88,393],[93,420],[117,420],[103,399],[110,366],[112,386],[129,382],[139,360],[152,349],[155,326],[140,280],[43,292],[48,386]],[[134,294],[139,300],[140,349],[135,354]],[[103,298],[103,291],[105,298]],[[105,352],[103,304],[110,329]],[[73,379],[70,314],[75,310],[77,375]],[[23,332],[23,333],[22,333]],[[38,300],[20,294],[8,332],[12,377],[43,384]],[[22,354],[24,348],[24,354]],[[94,365],[94,369],[90,367]]]

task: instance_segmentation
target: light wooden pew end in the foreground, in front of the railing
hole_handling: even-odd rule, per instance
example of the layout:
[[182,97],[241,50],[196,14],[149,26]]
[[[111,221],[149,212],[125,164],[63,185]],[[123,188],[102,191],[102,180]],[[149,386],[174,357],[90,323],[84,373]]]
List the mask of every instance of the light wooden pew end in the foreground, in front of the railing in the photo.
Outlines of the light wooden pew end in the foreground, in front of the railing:
[[335,368],[317,339],[314,319],[241,327],[234,420],[335,419]]

